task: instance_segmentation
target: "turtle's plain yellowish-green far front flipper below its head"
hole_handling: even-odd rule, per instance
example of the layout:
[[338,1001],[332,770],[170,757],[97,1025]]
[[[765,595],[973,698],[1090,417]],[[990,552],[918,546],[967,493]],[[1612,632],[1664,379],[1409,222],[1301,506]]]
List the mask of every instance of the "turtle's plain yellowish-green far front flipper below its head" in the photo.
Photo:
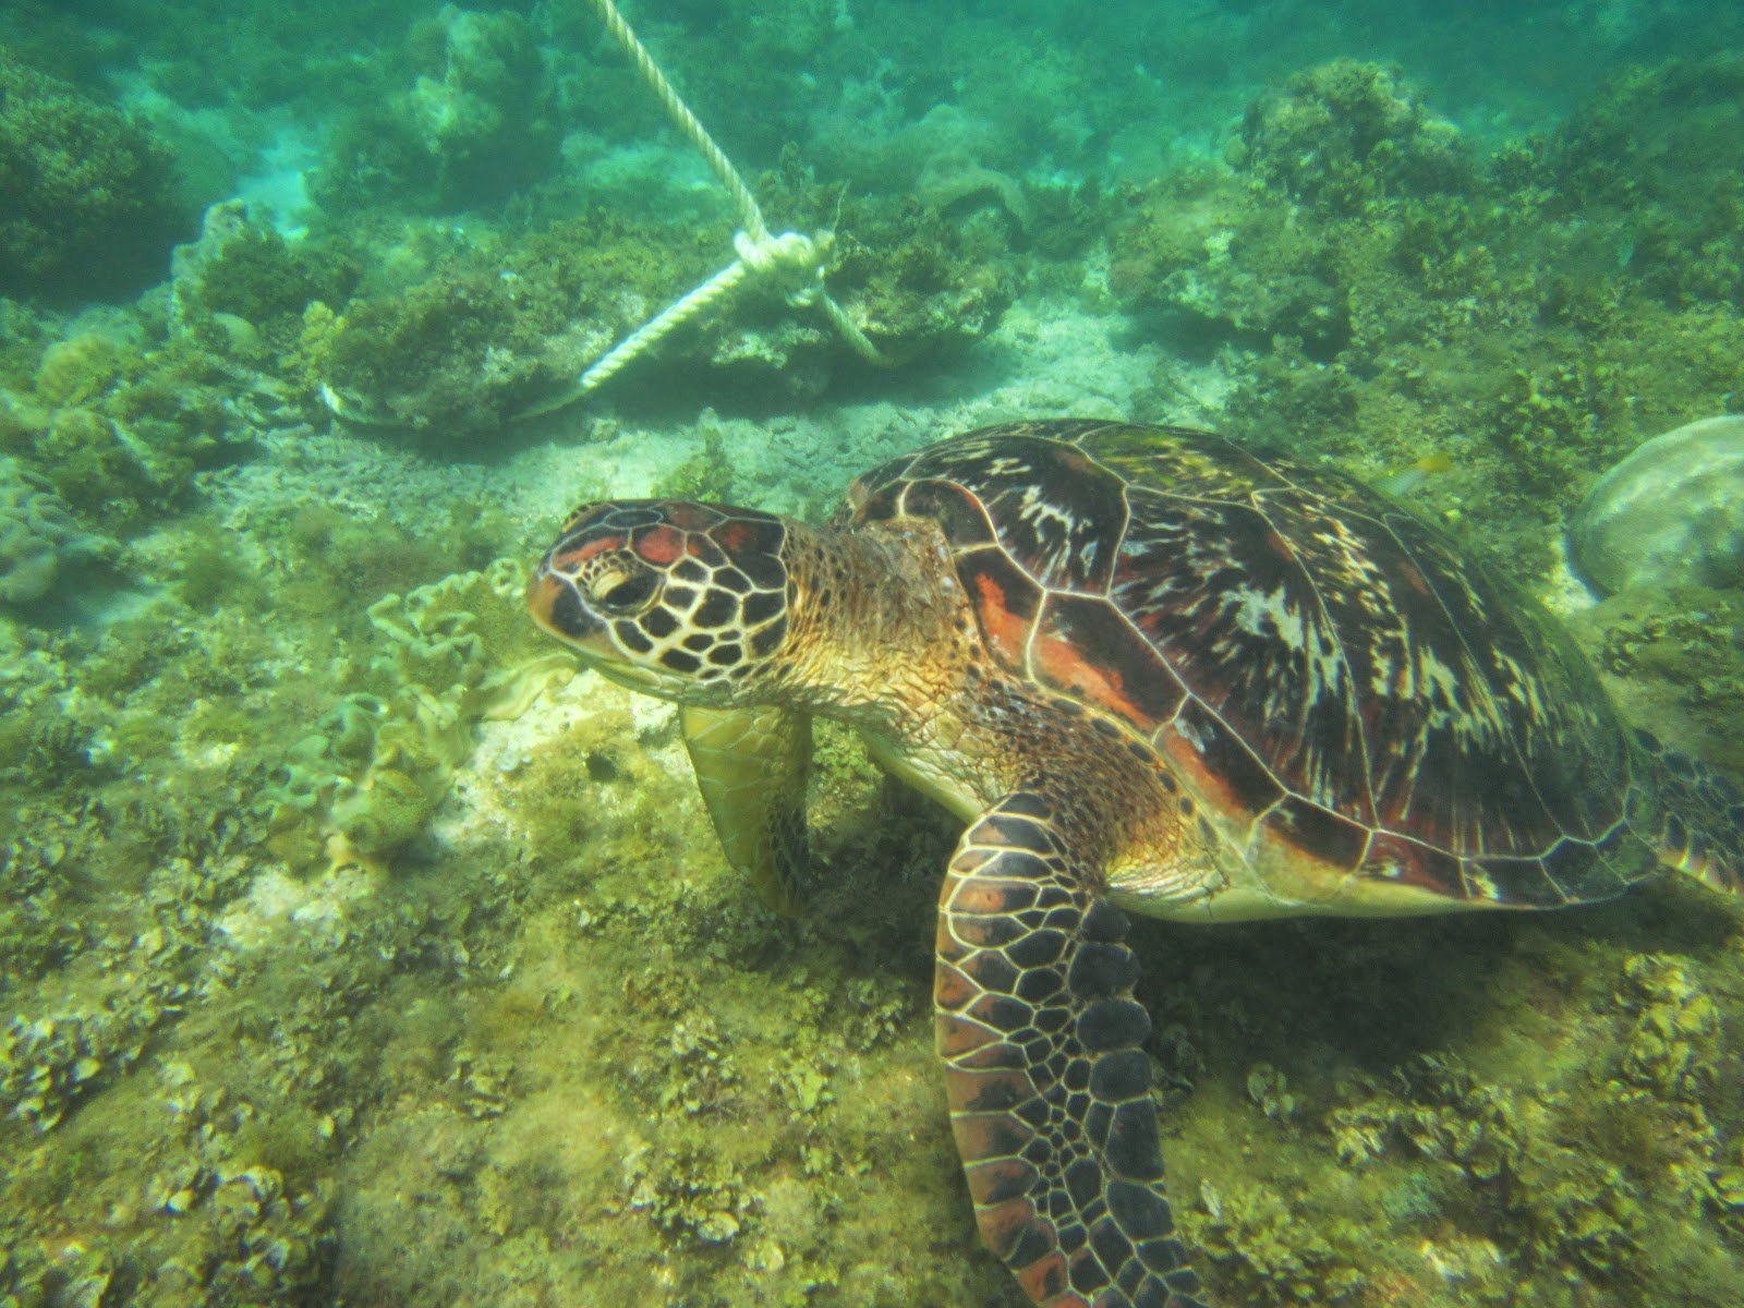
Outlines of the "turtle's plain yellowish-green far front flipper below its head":
[[678,726],[727,862],[764,903],[794,912],[809,862],[811,719],[790,708],[684,705]]

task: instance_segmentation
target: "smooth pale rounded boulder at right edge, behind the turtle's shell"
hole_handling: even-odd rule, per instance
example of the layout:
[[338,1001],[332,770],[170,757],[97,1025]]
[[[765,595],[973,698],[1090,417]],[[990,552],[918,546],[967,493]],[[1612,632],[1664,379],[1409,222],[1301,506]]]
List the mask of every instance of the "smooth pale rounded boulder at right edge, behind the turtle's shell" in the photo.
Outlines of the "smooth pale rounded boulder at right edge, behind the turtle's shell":
[[1744,417],[1702,419],[1641,445],[1575,511],[1575,569],[1606,593],[1744,581]]

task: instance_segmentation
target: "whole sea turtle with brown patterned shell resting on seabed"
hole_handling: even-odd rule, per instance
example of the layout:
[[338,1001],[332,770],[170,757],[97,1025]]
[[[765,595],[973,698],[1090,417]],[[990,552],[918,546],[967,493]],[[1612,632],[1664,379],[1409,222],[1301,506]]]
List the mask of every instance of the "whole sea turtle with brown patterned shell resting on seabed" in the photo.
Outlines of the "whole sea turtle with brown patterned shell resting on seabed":
[[680,703],[727,860],[776,903],[811,715],[968,823],[938,1053],[982,1236],[1050,1308],[1200,1303],[1128,912],[1549,909],[1744,872],[1739,792],[1625,731],[1536,605],[1357,481],[1207,433],[971,431],[825,528],[588,504],[528,603]]

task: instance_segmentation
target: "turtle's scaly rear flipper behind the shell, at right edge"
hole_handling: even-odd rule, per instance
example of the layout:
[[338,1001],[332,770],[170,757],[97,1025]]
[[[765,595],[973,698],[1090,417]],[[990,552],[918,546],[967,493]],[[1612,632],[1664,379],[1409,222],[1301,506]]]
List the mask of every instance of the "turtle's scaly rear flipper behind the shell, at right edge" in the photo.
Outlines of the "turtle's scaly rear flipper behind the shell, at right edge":
[[1744,895],[1744,792],[1657,736],[1634,736],[1648,785],[1636,790],[1631,827],[1655,846],[1659,862]]

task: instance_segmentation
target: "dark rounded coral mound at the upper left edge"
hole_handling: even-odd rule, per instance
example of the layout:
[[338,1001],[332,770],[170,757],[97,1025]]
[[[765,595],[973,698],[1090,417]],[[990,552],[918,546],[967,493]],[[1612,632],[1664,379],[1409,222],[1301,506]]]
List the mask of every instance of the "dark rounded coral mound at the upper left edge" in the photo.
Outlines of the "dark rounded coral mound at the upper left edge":
[[0,293],[138,291],[183,220],[162,146],[0,51]]

